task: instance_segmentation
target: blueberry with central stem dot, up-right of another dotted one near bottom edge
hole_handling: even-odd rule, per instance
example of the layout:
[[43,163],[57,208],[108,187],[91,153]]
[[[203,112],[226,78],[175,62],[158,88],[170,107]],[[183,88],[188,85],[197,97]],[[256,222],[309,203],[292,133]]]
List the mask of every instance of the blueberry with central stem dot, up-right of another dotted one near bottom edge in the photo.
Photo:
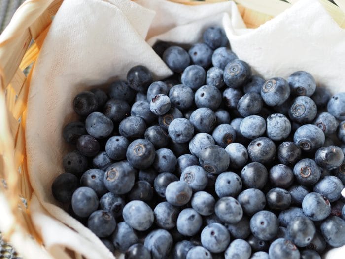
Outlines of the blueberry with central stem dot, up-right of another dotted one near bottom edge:
[[259,211],[250,219],[250,230],[256,238],[271,240],[278,231],[278,218],[270,211]]

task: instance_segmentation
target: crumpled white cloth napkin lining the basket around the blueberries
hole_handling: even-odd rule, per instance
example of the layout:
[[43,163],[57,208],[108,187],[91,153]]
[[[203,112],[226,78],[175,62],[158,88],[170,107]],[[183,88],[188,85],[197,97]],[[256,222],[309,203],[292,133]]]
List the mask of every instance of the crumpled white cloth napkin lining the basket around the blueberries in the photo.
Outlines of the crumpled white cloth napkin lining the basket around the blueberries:
[[[35,191],[32,220],[55,258],[69,258],[65,248],[88,259],[114,258],[91,231],[58,207],[51,194],[68,150],[62,128],[75,117],[73,97],[125,78],[138,64],[148,67],[155,79],[171,75],[150,46],[157,39],[191,44],[214,24],[224,26],[239,58],[265,78],[306,70],[333,92],[345,90],[345,30],[317,0],[300,0],[257,29],[245,28],[231,1],[185,6],[164,0],[64,0],[35,64],[26,122]],[[344,255],[341,249],[336,253]]]

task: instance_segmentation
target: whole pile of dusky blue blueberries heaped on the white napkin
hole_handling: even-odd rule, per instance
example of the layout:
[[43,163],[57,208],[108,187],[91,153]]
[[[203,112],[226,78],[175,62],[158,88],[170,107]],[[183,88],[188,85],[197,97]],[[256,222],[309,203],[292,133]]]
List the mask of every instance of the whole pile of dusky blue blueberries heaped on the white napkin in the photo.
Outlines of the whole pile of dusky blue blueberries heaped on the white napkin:
[[127,259],[319,259],[345,245],[345,92],[304,71],[252,75],[219,27],[203,39],[153,47],[175,73],[163,81],[135,66],[74,98],[55,199]]

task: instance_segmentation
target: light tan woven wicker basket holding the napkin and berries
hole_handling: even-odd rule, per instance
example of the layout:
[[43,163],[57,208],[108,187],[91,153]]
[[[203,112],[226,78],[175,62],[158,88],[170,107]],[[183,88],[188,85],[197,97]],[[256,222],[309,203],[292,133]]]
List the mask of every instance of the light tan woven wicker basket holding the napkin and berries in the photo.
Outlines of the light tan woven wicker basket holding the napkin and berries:
[[[28,209],[33,189],[27,171],[24,129],[35,60],[62,1],[27,0],[0,36],[0,230],[25,258],[52,258],[35,232]],[[224,0],[172,1],[195,5]],[[249,28],[274,18],[296,1],[235,0]],[[345,28],[345,0],[334,0],[338,6],[327,0],[320,2]],[[31,69],[26,75],[28,67]]]

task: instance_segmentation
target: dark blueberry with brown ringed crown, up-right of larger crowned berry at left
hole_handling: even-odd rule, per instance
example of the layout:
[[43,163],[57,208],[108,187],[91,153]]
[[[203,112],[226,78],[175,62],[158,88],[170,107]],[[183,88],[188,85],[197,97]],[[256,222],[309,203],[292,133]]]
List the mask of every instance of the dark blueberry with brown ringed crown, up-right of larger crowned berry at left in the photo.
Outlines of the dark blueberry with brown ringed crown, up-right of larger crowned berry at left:
[[135,168],[146,169],[153,164],[156,150],[151,142],[146,139],[137,139],[127,148],[128,162]]

